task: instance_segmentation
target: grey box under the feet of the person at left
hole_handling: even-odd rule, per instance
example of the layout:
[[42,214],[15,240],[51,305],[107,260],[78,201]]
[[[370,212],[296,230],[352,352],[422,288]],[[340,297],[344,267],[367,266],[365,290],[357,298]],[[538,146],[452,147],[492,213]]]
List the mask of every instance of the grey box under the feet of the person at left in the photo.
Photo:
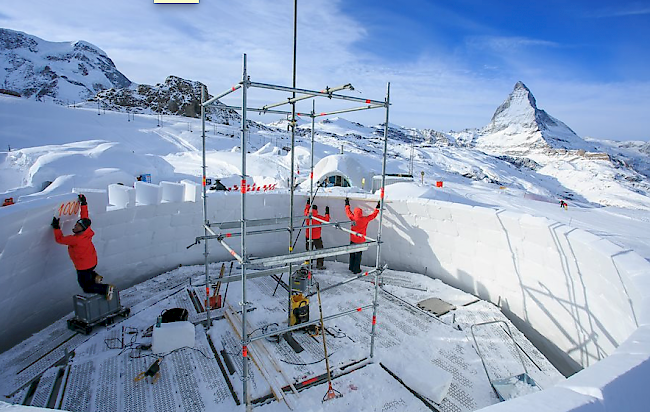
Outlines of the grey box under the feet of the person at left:
[[130,313],[129,308],[120,304],[117,290],[111,300],[106,300],[104,295],[84,293],[73,296],[72,302],[75,316],[68,320],[68,328],[85,334],[90,333],[95,325],[111,324],[115,316],[126,317]]

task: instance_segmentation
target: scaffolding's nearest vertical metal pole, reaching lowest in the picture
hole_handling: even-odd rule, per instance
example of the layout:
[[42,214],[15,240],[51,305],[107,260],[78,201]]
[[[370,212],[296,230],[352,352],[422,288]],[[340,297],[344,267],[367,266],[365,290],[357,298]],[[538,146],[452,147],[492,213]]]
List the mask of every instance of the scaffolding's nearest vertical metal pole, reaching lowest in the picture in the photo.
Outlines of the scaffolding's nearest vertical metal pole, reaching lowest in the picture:
[[246,263],[248,257],[246,256],[246,94],[248,92],[248,74],[246,71],[246,54],[243,58],[243,74],[242,74],[242,114],[241,114],[241,256],[243,263],[241,265],[241,288],[242,288],[242,377],[243,381],[243,396],[244,402],[247,407],[250,407],[248,395],[248,335],[246,333],[246,311],[248,309],[248,300],[246,298]]

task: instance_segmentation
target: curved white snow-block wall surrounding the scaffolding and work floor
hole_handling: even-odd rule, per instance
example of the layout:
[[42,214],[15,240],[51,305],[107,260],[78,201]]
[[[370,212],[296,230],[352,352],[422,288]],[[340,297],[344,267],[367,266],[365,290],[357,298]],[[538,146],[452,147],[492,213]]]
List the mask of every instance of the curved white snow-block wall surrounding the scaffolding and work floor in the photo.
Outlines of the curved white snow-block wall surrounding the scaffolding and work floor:
[[[203,244],[187,249],[203,234],[198,186],[117,186],[78,190],[88,198],[97,272],[107,281],[124,289],[179,265],[203,263]],[[70,313],[79,287],[49,223],[61,215],[64,234],[71,233],[75,200],[69,194],[0,208],[0,350]],[[248,219],[287,214],[286,193],[254,193],[246,202]],[[375,202],[353,200],[352,206],[369,211]],[[342,198],[323,196],[317,204],[329,205],[333,220],[347,220]],[[298,196],[295,215],[303,208]],[[208,212],[210,222],[238,220],[239,194],[211,193]],[[378,219],[371,222],[369,236],[377,225]],[[231,239],[239,251],[239,238]],[[344,245],[348,235],[324,228],[323,240]],[[635,252],[545,218],[423,199],[388,201],[382,240],[389,267],[440,278],[498,304],[519,327],[543,336],[547,350],[560,351],[567,368],[586,368],[553,388],[486,410],[636,411],[650,404],[650,263]],[[283,254],[287,245],[288,235],[278,233],[247,238],[247,251],[256,256]],[[230,258],[216,242],[209,250],[210,261]],[[371,248],[363,263],[374,265],[375,257]]]

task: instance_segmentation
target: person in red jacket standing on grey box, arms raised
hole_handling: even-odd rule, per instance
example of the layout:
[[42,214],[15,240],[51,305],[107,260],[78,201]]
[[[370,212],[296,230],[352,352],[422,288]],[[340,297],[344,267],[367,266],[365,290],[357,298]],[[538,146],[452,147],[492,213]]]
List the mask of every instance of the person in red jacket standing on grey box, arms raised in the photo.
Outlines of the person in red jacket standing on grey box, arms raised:
[[88,203],[86,196],[79,195],[81,203],[81,219],[77,220],[72,228],[72,235],[64,236],[59,225],[59,219],[52,218],[54,228],[54,240],[56,243],[68,246],[70,259],[77,269],[77,282],[86,293],[99,293],[106,296],[107,300],[113,298],[113,285],[101,283],[102,277],[95,272],[97,267],[97,252],[93,245],[95,232],[90,228],[88,219]]

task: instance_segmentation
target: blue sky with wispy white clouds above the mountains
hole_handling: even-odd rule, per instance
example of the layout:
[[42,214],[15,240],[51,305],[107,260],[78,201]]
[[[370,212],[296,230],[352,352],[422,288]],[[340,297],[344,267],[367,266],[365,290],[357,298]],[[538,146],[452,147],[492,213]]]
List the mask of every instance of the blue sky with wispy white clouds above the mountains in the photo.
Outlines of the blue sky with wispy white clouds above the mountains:
[[[246,53],[252,80],[291,84],[291,0],[14,1],[0,27],[91,42],[137,83],[174,74],[216,94],[240,80]],[[300,0],[297,78],[306,89],[352,83],[373,99],[390,82],[392,123],[440,131],[486,125],[521,80],[580,136],[650,140],[648,45],[647,1]]]

